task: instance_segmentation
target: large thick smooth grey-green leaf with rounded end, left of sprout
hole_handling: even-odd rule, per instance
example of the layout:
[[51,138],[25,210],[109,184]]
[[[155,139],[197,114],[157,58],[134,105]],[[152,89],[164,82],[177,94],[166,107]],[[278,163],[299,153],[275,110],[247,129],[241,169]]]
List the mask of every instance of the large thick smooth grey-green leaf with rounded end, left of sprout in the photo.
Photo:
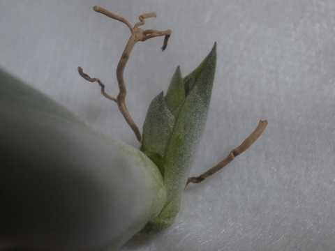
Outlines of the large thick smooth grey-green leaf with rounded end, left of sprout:
[[165,201],[161,174],[0,71],[0,247],[118,247]]

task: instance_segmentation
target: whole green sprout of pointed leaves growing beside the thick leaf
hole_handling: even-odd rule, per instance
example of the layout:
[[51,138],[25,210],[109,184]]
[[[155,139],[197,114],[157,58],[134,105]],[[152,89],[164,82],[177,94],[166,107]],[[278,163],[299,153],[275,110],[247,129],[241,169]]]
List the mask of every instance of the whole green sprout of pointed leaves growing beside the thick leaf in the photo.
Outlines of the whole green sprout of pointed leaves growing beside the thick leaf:
[[178,67],[167,95],[163,98],[161,93],[149,106],[142,151],[161,169],[167,201],[147,229],[168,227],[179,211],[181,194],[207,120],[215,68],[216,44],[200,66],[184,79]]

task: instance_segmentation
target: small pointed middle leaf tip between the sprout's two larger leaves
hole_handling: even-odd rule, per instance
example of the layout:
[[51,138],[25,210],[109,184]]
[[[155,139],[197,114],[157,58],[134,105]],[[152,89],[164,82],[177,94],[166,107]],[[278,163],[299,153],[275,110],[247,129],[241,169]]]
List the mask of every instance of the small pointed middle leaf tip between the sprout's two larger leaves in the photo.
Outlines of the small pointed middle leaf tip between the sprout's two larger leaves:
[[180,67],[178,66],[171,79],[168,92],[165,96],[166,104],[170,111],[176,115],[178,108],[184,103],[185,88],[183,78],[181,77]]

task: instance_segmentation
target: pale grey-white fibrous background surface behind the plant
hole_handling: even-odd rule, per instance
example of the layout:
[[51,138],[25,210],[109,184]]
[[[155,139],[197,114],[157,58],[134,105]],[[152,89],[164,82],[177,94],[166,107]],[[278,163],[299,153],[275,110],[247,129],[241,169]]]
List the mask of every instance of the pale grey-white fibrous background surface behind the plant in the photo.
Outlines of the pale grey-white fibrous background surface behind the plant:
[[325,250],[335,248],[334,0],[1,0],[0,66],[98,130],[137,145],[116,105],[77,66],[117,93],[124,24],[91,10],[156,11],[147,29],[172,29],[135,47],[128,107],[142,125],[174,68],[186,75],[218,42],[207,128],[192,174],[225,157],[267,119],[265,135],[219,174],[186,190],[173,227],[124,250]]

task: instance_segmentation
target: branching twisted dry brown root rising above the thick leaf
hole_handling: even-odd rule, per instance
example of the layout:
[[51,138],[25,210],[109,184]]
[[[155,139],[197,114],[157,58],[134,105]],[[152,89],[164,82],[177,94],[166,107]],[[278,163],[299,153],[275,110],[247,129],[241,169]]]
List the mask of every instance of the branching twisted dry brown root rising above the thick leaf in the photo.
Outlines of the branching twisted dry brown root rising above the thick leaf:
[[165,50],[165,48],[168,46],[168,39],[170,38],[170,35],[172,31],[170,29],[166,31],[158,31],[153,29],[148,30],[142,30],[139,27],[145,24],[145,19],[150,17],[156,17],[156,13],[144,13],[138,17],[140,22],[137,22],[133,27],[131,26],[131,23],[128,22],[124,17],[121,17],[120,15],[117,15],[115,13],[110,12],[109,10],[106,10],[105,8],[102,8],[100,6],[94,6],[93,8],[96,12],[102,13],[103,15],[106,15],[107,17],[110,17],[114,20],[118,20],[119,22],[122,22],[128,26],[128,28],[131,31],[131,37],[128,39],[128,42],[126,43],[126,47],[124,48],[124,52],[121,55],[121,58],[119,60],[119,63],[117,65],[117,82],[119,85],[119,94],[117,98],[113,98],[109,94],[105,93],[105,85],[101,82],[100,79],[97,78],[91,78],[86,73],[83,73],[82,68],[78,68],[78,72],[80,75],[86,79],[89,82],[98,82],[98,84],[101,86],[101,93],[106,98],[113,100],[117,102],[117,106],[119,107],[119,110],[121,114],[124,116],[124,119],[128,123],[128,125],[131,127],[133,132],[136,135],[136,138],[139,142],[141,142],[142,137],[140,130],[136,126],[135,121],[133,121],[133,118],[131,117],[131,114],[128,112],[127,106],[126,106],[126,84],[124,82],[124,69],[126,67],[126,64],[128,62],[129,56],[131,54],[131,51],[133,50],[133,47],[138,41],[145,41],[150,38],[156,38],[158,36],[165,36],[162,50]]

